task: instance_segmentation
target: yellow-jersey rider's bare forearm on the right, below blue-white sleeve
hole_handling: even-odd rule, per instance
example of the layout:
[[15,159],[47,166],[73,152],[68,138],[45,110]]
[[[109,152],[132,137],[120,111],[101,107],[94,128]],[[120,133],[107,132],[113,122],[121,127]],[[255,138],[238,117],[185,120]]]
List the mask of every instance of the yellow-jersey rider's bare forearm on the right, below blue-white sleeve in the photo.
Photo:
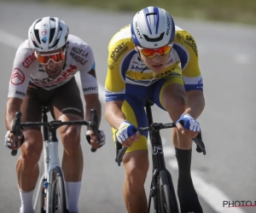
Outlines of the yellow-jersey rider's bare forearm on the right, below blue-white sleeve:
[[188,103],[184,113],[188,113],[192,118],[199,118],[205,107],[205,98],[200,90],[187,92]]

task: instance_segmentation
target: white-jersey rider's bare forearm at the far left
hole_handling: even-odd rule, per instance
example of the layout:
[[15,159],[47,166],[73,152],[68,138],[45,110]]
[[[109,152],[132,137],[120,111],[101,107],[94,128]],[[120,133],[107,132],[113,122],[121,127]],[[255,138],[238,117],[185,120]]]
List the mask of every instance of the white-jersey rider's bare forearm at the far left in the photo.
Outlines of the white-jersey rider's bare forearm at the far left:
[[5,126],[7,130],[12,129],[15,113],[20,112],[22,100],[18,98],[8,98],[5,107]]

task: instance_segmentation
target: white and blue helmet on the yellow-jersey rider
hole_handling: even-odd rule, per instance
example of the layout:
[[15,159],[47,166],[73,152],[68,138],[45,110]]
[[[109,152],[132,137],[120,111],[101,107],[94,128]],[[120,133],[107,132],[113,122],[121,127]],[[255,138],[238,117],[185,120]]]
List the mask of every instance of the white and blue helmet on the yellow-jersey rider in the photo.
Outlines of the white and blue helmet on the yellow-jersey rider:
[[131,23],[131,37],[137,46],[157,49],[172,43],[175,24],[165,9],[147,7],[134,15]]

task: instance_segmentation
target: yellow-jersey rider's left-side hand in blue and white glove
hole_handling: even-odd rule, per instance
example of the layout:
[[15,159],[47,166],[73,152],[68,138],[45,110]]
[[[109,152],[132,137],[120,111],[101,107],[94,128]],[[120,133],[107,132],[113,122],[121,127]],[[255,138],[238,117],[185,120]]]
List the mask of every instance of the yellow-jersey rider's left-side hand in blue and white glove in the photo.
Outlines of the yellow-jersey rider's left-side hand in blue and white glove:
[[131,147],[140,137],[140,131],[128,121],[124,121],[116,132],[116,137],[124,147]]

